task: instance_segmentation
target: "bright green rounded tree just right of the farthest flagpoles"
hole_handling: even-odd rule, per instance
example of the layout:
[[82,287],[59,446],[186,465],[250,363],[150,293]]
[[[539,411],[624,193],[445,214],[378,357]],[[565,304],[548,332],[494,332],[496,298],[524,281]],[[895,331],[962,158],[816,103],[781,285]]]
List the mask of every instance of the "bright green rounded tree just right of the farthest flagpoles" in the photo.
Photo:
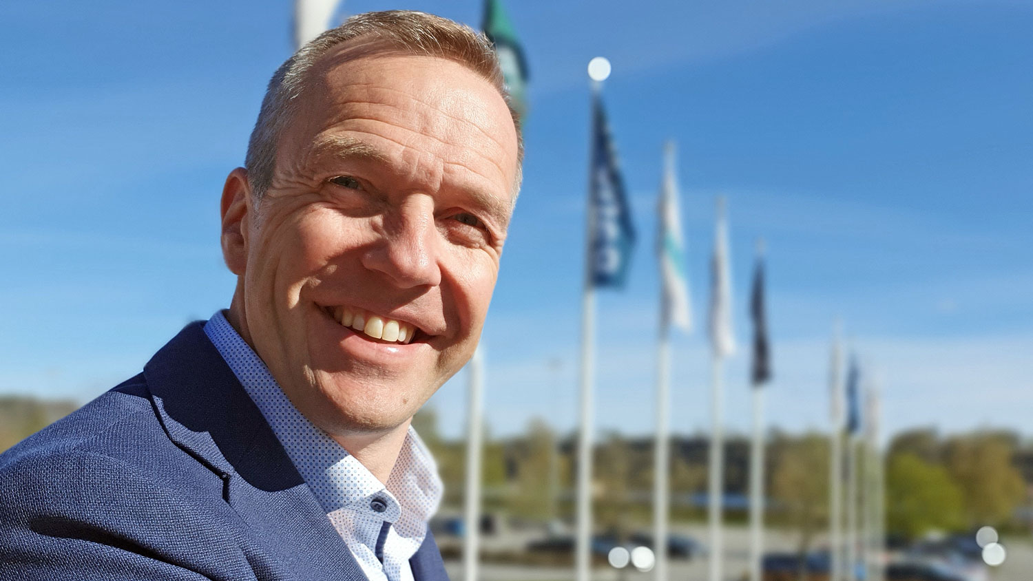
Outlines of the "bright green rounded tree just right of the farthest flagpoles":
[[909,539],[963,525],[962,491],[943,466],[911,452],[894,454],[886,471],[886,528]]

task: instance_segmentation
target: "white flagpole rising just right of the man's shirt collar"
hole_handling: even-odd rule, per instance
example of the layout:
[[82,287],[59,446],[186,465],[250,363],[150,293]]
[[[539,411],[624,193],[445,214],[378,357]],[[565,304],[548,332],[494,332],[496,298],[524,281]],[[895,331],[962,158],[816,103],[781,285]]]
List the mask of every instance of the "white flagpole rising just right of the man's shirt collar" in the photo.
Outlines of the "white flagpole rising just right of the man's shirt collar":
[[478,346],[470,359],[470,394],[467,402],[466,506],[464,510],[463,579],[477,581],[480,541],[480,450],[484,391],[484,354]]

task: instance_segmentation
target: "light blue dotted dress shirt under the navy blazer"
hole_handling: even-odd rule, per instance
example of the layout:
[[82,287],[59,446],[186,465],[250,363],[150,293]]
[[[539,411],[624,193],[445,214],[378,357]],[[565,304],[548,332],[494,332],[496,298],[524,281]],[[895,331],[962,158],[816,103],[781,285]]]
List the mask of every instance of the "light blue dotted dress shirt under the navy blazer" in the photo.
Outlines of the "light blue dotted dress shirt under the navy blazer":
[[413,581],[409,558],[427,536],[443,486],[437,465],[409,428],[384,486],[290,402],[258,355],[220,311],[205,325],[287,456],[326,511],[370,581]]

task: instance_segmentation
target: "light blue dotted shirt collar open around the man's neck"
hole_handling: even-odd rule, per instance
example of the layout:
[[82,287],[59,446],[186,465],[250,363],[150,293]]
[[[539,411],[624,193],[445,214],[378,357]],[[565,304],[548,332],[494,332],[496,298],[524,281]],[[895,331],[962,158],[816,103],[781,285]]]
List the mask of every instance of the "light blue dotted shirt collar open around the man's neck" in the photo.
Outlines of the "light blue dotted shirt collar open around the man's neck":
[[[290,402],[273,375],[243,337],[217,312],[205,333],[254,400],[294,467],[327,513],[386,505],[380,516],[403,529],[422,530],[441,501],[437,465],[411,426],[384,486],[354,456],[316,427]],[[378,511],[379,512],[379,511]]]

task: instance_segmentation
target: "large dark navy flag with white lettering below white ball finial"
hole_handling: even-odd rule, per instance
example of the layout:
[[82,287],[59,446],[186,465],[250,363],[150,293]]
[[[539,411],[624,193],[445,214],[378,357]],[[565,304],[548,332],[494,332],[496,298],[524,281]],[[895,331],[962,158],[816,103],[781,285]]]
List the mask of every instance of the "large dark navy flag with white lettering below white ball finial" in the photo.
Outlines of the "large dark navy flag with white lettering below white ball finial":
[[609,124],[598,95],[593,99],[592,108],[590,277],[593,286],[620,288],[624,286],[631,262],[635,231]]

